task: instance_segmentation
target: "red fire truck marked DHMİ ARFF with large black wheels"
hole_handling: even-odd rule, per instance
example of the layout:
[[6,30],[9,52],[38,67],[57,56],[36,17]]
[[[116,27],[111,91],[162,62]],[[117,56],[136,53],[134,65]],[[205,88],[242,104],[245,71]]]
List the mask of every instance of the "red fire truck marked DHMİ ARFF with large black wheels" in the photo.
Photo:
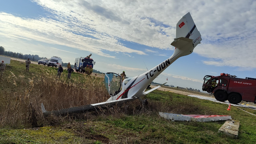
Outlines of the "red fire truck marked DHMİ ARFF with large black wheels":
[[237,104],[242,100],[256,103],[256,79],[236,78],[230,74],[204,76],[203,91],[213,94],[216,100]]

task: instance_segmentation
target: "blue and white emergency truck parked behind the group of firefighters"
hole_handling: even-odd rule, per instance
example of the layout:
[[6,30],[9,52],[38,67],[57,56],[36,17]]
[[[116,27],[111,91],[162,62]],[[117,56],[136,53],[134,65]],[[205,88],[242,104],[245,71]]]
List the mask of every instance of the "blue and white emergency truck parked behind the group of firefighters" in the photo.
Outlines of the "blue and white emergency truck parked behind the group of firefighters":
[[93,60],[90,59],[90,58],[76,58],[75,60],[75,69],[76,69],[76,72],[85,72],[85,67],[89,65],[89,66],[92,66],[93,68],[93,65],[95,65],[95,61],[94,61],[94,64],[93,64]]

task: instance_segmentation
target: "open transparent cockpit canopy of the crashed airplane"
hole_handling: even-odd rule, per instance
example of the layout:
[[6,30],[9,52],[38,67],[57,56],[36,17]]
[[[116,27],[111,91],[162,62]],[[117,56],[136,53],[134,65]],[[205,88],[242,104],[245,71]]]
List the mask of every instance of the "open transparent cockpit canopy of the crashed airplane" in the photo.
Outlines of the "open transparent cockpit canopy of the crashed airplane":
[[115,73],[106,73],[104,84],[108,90],[109,95],[113,95],[115,92],[120,90],[122,78]]

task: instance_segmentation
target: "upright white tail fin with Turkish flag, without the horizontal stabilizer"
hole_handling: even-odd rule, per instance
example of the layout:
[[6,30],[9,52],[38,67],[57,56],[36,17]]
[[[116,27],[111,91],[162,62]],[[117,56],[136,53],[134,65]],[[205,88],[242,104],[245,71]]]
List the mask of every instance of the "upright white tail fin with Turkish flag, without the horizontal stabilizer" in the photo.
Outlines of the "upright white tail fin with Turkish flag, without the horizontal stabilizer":
[[[189,12],[185,14],[176,25],[176,38],[181,37],[191,39],[193,47],[196,47],[196,45],[202,40],[201,34],[197,30],[194,20]],[[180,47],[177,48],[179,49]]]

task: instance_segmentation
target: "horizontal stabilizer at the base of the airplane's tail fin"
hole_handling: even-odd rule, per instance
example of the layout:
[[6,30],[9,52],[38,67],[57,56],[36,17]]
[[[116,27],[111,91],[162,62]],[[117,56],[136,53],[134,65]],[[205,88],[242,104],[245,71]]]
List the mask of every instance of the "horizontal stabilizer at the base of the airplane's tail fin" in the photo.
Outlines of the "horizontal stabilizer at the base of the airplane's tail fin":
[[178,48],[178,49],[182,49],[182,48],[186,48],[188,46],[192,46],[193,47],[193,39],[189,39],[186,37],[179,37],[179,38],[174,38],[174,41],[172,42],[172,46]]

